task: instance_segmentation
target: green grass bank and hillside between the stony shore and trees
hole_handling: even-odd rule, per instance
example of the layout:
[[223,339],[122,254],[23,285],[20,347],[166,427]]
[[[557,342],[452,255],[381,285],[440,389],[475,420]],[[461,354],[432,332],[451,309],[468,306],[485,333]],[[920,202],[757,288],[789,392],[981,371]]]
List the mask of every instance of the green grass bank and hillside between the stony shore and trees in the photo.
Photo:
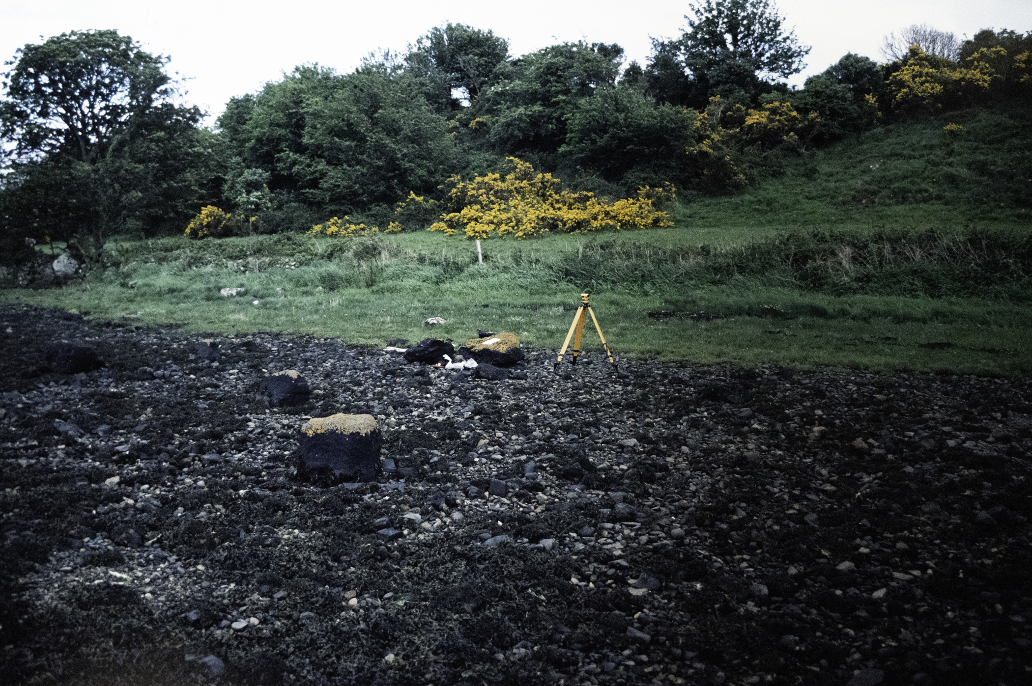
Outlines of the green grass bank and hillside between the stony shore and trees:
[[[946,121],[965,126],[965,135],[945,134]],[[1030,125],[1032,118],[1020,108],[893,125],[791,161],[780,176],[740,194],[678,207],[673,229],[485,241],[483,266],[473,264],[470,241],[426,232],[354,246],[267,237],[198,246],[172,238],[123,246],[121,267],[87,285],[4,291],[0,299],[141,322],[183,322],[202,331],[292,331],[374,345],[419,339],[428,333],[421,322],[438,316],[449,324],[434,329],[434,335],[460,340],[477,328],[505,329],[528,345],[554,348],[569,327],[577,293],[599,275],[606,287],[594,289],[592,302],[607,339],[623,354],[1024,373],[1032,370],[1029,297],[932,299],[884,289],[836,295],[755,273],[718,283],[664,283],[634,272],[667,260],[666,270],[655,273],[679,274],[670,261],[672,254],[681,255],[679,250],[696,251],[685,258],[684,269],[690,271],[721,254],[799,229],[963,231],[978,226],[1027,234]],[[699,253],[701,244],[712,246],[716,257]],[[343,253],[327,261],[333,251]],[[569,273],[556,265],[574,262],[582,252],[594,273],[556,276]],[[227,266],[227,259],[235,264]],[[243,286],[249,295],[222,298],[218,290],[227,286]],[[723,318],[647,317],[657,309],[706,311]],[[786,318],[786,312],[795,317]],[[928,344],[937,345],[922,347]],[[586,347],[598,348],[593,334]]]

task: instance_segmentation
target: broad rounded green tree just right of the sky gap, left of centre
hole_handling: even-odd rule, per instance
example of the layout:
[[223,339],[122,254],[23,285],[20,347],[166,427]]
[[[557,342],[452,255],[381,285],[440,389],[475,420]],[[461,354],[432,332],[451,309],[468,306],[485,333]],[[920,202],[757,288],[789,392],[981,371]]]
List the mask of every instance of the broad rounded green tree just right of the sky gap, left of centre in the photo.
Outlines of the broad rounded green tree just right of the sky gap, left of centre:
[[454,164],[447,121],[423,97],[420,80],[398,63],[368,61],[341,75],[297,67],[255,99],[243,130],[244,164],[230,178],[280,205],[300,200],[327,215],[394,203],[432,191]]

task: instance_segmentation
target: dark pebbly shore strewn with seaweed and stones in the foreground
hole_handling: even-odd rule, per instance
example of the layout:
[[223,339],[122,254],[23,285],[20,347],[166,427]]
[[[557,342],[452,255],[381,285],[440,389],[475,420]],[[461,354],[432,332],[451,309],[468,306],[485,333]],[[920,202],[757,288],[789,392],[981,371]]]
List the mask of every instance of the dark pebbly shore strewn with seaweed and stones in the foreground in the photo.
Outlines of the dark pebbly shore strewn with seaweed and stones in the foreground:
[[[8,683],[1032,679],[1027,379],[201,337],[0,308]],[[258,402],[283,369],[308,404]],[[296,478],[336,412],[378,417],[382,479]]]

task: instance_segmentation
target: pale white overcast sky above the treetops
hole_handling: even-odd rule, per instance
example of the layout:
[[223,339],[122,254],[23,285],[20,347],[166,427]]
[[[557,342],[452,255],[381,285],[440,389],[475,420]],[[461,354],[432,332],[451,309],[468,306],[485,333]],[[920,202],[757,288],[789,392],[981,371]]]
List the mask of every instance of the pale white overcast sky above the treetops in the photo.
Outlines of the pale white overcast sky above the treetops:
[[[881,37],[910,24],[972,35],[983,28],[1032,30],[1029,0],[780,0],[780,13],[800,42],[812,45],[802,85],[847,52],[882,61]],[[318,62],[346,72],[370,52],[404,51],[447,22],[490,29],[522,55],[575,40],[619,43],[627,62],[645,63],[650,37],[680,35],[686,2],[669,0],[521,0],[461,3],[294,0],[4,0],[0,59],[25,43],[71,30],[118,29],[151,53],[172,58],[169,70],[188,80],[186,100],[218,116],[234,95],[253,93],[284,71]],[[211,120],[209,120],[211,121]]]

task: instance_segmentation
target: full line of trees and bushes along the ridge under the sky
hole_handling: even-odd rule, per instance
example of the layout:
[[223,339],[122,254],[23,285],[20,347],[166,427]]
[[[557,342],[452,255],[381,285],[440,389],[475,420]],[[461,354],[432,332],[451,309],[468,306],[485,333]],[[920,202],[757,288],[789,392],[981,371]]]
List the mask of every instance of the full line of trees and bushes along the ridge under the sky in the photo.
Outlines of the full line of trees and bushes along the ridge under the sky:
[[27,44],[0,100],[5,252],[67,240],[96,259],[116,233],[180,233],[206,205],[257,231],[338,215],[386,225],[410,194],[444,199],[447,179],[507,158],[612,199],[665,184],[727,193],[886,121],[1032,86],[1032,33],[958,41],[922,26],[886,37],[886,63],[847,54],[793,89],[809,47],[769,0],[689,8],[644,66],[586,41],[513,57],[493,32],[448,24],[348,73],[298,66],[232,98],[212,128],[179,103],[169,58],[117,31]]

